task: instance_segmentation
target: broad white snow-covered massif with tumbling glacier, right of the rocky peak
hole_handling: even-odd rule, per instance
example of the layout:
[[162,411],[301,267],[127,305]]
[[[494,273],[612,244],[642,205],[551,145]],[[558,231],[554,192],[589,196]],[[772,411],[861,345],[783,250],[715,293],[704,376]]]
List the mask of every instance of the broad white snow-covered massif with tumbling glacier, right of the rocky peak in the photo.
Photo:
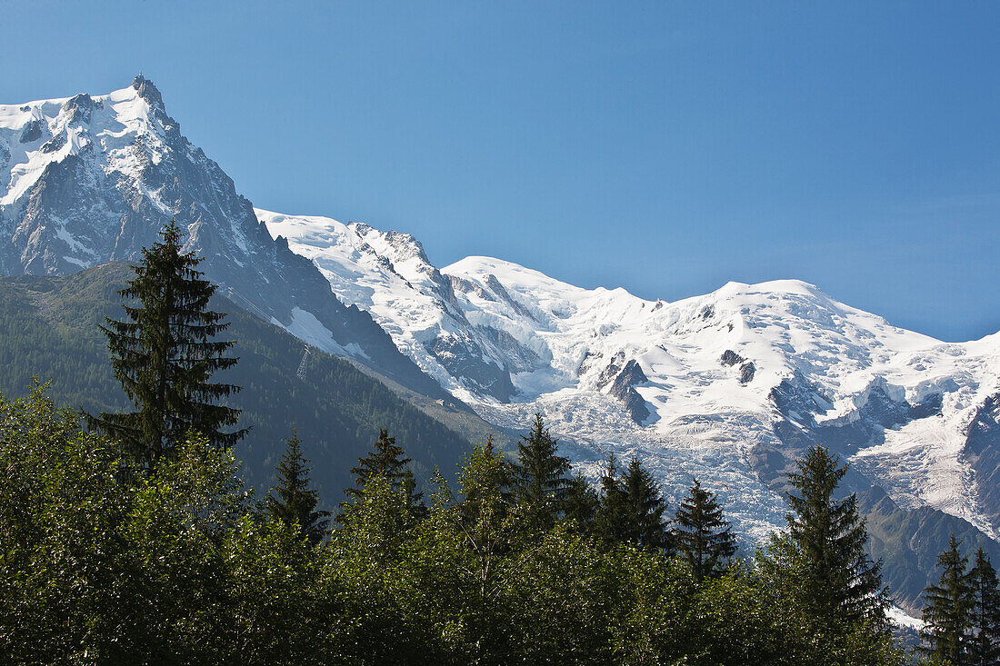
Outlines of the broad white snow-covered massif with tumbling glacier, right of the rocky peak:
[[675,498],[698,476],[759,538],[821,442],[853,489],[1000,533],[1000,334],[944,343],[796,280],[667,303],[486,257],[438,269],[407,234],[256,212],[444,388],[499,425],[541,410],[592,472],[639,455]]

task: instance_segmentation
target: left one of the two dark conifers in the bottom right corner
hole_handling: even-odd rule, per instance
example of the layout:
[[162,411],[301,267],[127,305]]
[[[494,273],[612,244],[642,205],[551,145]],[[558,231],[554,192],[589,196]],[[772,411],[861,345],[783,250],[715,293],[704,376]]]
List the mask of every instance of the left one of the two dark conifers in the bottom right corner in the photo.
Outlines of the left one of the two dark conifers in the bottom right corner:
[[929,645],[925,650],[938,659],[949,660],[954,666],[969,663],[969,630],[975,603],[966,571],[969,558],[961,553],[959,544],[952,534],[948,550],[938,555],[941,578],[937,585],[924,589],[925,625],[920,632]]

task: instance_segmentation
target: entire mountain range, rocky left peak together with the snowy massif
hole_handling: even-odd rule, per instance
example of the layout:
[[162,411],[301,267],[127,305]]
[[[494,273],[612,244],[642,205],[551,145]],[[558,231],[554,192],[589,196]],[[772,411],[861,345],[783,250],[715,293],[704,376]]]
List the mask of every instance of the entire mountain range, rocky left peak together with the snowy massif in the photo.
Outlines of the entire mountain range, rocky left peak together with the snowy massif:
[[748,543],[819,442],[907,608],[948,533],[1000,557],[1000,334],[944,343],[794,280],[668,303],[486,257],[439,269],[407,234],[255,210],[142,76],[0,106],[2,272],[134,259],[171,217],[261,318],[497,426],[541,411],[591,474],[640,456],[673,500],[697,476]]

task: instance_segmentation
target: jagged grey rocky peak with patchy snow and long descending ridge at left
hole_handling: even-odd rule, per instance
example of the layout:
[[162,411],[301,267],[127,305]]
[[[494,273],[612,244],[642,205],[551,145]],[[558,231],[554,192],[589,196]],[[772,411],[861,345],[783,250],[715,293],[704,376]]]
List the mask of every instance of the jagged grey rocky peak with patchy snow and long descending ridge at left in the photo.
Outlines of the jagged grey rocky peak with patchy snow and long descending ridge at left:
[[325,351],[445,397],[371,317],[271,239],[250,202],[142,75],[108,95],[0,106],[0,270],[64,274],[130,260],[175,217],[223,292]]

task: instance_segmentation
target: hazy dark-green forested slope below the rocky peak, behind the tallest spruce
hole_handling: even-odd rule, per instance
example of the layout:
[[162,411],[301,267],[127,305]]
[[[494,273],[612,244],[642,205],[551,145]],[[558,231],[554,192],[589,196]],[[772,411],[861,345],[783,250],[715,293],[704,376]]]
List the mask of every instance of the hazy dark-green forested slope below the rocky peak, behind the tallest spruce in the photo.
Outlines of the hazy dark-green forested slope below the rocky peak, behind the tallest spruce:
[[[38,376],[52,380],[57,403],[91,412],[126,407],[97,326],[105,316],[121,316],[116,292],[130,275],[126,264],[111,263],[65,277],[0,278],[0,393],[22,395]],[[221,296],[212,308],[228,313],[232,326],[225,337],[237,340],[240,362],[219,379],[243,387],[231,403],[243,409],[241,425],[251,427],[236,448],[249,485],[270,485],[293,427],[328,504],[343,499],[341,490],[351,483],[348,470],[378,428],[388,429],[413,457],[421,481],[435,466],[451,476],[470,448],[462,435],[346,361],[313,350],[300,379],[300,340]]]

